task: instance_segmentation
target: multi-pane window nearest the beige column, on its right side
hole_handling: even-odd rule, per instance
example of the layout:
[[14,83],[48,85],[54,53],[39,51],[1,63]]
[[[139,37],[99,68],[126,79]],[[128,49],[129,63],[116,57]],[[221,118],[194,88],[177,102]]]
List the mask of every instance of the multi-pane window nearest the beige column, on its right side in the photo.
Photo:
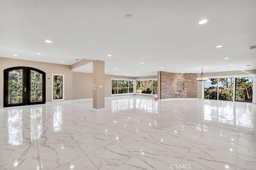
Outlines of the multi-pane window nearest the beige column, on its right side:
[[127,94],[133,93],[133,81],[131,80],[112,80],[111,94]]

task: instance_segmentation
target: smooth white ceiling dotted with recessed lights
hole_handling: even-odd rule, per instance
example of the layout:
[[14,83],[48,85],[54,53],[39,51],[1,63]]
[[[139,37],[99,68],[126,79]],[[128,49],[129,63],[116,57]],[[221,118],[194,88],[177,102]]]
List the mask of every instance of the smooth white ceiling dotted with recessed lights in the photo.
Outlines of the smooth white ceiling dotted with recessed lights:
[[133,77],[256,69],[255,9],[256,0],[1,0],[0,56],[102,60],[106,74]]

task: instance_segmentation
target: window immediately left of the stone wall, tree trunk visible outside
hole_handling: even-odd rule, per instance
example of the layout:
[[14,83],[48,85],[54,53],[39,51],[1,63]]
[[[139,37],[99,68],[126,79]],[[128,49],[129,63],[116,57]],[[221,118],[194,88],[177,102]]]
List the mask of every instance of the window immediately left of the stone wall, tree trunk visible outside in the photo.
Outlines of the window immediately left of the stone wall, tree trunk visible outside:
[[136,80],[136,93],[157,94],[157,80]]

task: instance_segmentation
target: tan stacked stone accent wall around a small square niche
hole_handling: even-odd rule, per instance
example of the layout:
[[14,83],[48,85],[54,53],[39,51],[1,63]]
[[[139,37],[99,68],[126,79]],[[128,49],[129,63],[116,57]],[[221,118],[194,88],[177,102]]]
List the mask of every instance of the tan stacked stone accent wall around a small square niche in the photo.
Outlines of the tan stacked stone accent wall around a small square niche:
[[[197,98],[197,74],[160,71],[160,99]],[[177,90],[177,83],[184,83],[184,90]]]

